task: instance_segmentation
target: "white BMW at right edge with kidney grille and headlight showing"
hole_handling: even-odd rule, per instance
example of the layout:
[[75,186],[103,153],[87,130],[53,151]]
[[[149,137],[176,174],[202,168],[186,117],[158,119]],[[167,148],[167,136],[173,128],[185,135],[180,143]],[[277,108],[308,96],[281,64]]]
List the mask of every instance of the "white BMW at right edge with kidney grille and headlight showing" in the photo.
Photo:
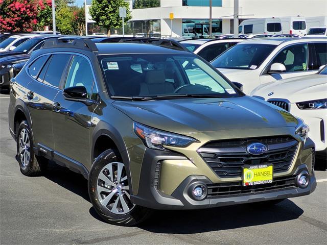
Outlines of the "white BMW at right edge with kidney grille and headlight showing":
[[327,152],[327,65],[317,74],[279,80],[250,93],[303,119],[316,151]]

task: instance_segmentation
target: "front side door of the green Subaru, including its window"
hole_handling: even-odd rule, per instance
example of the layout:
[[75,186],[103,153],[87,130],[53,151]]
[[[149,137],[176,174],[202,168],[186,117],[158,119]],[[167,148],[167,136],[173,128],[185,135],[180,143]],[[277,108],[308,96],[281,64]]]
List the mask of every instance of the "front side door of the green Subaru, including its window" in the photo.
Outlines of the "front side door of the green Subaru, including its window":
[[[89,62],[81,56],[74,56],[68,68],[64,88],[84,86],[89,99],[94,86],[94,77]],[[96,88],[94,88],[95,90]],[[97,103],[87,106],[82,102],[69,101],[60,91],[54,99],[53,133],[55,152],[74,159],[84,166],[90,166],[90,121]]]

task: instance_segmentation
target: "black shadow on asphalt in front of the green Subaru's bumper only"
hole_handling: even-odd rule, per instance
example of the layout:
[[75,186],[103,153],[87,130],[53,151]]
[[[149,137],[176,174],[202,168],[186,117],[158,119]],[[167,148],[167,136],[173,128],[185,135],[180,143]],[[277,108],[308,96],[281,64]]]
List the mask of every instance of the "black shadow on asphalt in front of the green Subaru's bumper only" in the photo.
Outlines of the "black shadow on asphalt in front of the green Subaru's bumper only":
[[156,210],[139,228],[153,233],[194,234],[283,222],[302,213],[290,200],[274,206],[242,204],[198,210]]

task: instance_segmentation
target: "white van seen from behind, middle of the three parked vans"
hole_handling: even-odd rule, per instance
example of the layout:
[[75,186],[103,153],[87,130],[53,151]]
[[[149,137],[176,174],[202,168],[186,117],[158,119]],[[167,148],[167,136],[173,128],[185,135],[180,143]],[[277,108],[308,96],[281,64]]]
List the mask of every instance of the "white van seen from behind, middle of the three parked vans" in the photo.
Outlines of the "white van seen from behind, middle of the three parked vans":
[[305,36],[307,34],[306,18],[303,16],[278,17],[281,19],[283,34],[297,34]]

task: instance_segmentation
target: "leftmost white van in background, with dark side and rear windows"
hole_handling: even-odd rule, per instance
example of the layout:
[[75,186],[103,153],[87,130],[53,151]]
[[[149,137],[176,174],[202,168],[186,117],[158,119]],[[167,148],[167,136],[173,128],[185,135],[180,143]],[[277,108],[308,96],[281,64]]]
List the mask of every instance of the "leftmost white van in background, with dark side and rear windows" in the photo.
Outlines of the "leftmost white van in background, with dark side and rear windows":
[[283,34],[282,23],[279,18],[260,18],[260,19],[246,19],[240,23],[240,34],[255,34],[255,33],[267,33],[267,34]]

